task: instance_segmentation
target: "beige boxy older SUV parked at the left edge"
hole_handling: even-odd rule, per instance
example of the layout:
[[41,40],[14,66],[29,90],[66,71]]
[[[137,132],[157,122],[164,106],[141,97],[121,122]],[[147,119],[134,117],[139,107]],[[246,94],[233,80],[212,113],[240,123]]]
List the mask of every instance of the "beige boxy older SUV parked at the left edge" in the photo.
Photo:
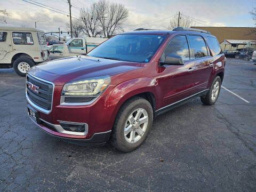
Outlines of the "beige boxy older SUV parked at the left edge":
[[30,67],[49,58],[44,31],[26,27],[0,27],[0,68],[26,76]]

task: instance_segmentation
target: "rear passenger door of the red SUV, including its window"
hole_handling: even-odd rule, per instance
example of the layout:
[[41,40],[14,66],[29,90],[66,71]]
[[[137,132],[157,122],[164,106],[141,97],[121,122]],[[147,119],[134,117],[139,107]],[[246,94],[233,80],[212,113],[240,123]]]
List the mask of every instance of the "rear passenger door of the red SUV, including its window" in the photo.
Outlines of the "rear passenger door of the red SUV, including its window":
[[207,89],[213,70],[213,59],[202,36],[187,35],[187,37],[190,45],[190,59],[195,65],[193,81],[197,92],[200,92]]

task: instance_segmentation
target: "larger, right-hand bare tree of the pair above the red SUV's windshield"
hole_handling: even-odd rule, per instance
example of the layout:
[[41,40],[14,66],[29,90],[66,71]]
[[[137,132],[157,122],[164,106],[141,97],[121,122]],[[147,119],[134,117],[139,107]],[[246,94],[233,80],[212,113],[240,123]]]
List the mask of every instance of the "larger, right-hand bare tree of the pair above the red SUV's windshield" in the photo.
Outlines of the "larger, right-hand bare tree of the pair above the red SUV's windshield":
[[109,38],[123,29],[122,24],[128,17],[128,10],[122,4],[100,0],[97,3],[97,15],[103,36]]

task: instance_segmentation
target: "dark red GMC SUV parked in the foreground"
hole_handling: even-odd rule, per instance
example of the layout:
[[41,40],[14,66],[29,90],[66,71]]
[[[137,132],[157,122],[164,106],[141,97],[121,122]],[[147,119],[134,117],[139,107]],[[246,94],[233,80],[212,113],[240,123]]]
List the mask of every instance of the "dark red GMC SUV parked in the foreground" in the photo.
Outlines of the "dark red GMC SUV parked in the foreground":
[[108,140],[131,151],[153,119],[188,100],[218,99],[226,58],[216,37],[190,28],[137,30],[87,55],[49,61],[27,74],[28,114],[71,143]]

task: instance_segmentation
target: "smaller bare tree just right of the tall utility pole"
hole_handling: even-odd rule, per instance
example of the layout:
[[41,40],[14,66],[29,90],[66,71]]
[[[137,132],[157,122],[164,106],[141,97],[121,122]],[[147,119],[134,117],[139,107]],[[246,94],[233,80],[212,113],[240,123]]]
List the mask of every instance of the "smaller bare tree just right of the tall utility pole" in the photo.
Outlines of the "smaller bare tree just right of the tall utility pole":
[[80,17],[82,20],[81,30],[89,37],[96,37],[101,34],[100,19],[97,11],[97,3],[93,3],[89,9],[82,8]]

